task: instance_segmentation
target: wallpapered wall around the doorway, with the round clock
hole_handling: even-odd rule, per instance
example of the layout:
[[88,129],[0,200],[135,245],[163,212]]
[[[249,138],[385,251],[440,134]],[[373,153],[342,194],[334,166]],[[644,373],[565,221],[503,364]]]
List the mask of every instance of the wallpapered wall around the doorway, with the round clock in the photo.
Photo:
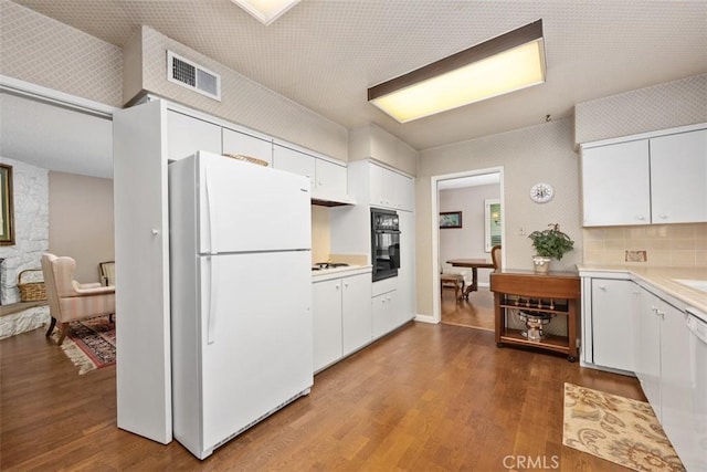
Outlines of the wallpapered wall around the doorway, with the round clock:
[[[504,168],[506,268],[531,270],[532,247],[527,234],[560,223],[574,240],[574,250],[553,261],[553,270],[573,270],[582,260],[579,158],[573,150],[569,119],[457,143],[420,153],[416,195],[418,313],[432,314],[431,177],[468,170]],[[547,203],[530,200],[530,187],[547,182],[555,198]],[[520,228],[525,234],[520,234]]]

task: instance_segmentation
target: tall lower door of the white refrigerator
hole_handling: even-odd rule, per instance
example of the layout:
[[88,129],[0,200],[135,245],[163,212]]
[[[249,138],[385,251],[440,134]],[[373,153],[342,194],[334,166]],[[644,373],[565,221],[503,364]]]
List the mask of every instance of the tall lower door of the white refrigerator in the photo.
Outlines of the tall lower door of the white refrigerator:
[[313,385],[309,252],[203,256],[203,448]]

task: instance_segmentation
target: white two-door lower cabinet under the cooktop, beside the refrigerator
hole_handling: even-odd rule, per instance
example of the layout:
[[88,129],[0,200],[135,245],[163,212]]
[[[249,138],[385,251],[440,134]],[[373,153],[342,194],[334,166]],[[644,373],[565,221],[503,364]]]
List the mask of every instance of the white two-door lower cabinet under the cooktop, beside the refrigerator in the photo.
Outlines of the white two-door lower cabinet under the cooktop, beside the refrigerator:
[[314,281],[314,371],[371,342],[370,272]]

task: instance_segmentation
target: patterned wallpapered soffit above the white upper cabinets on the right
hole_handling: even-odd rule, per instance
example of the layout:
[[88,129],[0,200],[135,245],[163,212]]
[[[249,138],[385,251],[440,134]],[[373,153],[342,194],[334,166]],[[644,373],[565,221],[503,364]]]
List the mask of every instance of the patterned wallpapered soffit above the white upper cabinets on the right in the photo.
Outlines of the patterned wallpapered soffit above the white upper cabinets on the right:
[[577,104],[574,144],[707,122],[707,74]]

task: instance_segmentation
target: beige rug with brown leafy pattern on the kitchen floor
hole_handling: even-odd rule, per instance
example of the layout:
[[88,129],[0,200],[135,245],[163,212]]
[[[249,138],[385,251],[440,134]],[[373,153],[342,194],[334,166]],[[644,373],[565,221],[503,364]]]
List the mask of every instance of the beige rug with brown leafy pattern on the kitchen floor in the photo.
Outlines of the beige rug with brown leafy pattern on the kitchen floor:
[[634,471],[685,470],[648,403],[572,384],[562,444]]

